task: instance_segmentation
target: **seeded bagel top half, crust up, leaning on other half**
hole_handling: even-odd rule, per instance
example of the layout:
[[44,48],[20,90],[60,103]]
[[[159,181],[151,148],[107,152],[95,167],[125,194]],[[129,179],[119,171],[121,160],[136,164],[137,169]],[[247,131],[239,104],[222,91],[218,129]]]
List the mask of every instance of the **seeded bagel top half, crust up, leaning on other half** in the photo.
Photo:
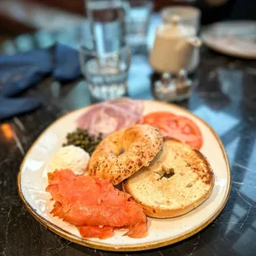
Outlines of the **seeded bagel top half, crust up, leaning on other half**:
[[111,183],[116,185],[149,166],[162,146],[163,137],[154,126],[135,125],[117,130],[97,146],[89,161],[88,173],[111,178]]

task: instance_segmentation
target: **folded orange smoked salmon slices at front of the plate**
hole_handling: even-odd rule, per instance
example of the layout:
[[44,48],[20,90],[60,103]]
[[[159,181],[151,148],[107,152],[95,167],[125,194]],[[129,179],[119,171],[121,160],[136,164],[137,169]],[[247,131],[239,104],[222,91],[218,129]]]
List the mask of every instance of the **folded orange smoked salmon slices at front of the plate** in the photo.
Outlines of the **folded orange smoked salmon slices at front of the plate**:
[[147,235],[147,217],[142,208],[110,179],[76,176],[71,170],[56,170],[48,176],[50,192],[55,200],[53,216],[76,225],[85,238],[105,239],[115,228],[128,227],[126,235],[141,238]]

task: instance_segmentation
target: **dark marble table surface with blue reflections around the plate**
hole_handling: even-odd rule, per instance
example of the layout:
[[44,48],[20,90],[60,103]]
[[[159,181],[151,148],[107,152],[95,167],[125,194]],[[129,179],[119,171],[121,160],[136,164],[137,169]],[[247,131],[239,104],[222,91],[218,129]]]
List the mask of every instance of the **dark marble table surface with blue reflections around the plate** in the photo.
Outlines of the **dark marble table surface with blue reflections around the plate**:
[[[24,40],[9,41],[4,49],[9,52],[24,50],[22,44],[26,45]],[[37,46],[35,41],[34,44],[30,47]],[[130,97],[153,97],[152,74],[145,55],[133,56]],[[24,93],[42,96],[43,107],[0,122],[0,254],[256,255],[256,61],[231,58],[203,47],[195,78],[198,83],[192,97],[182,105],[216,130],[230,159],[230,198],[216,220],[197,235],[178,244],[126,254],[112,254],[73,244],[40,225],[25,210],[17,194],[17,173],[21,161],[36,137],[51,122],[67,111],[90,103],[83,80],[61,85],[52,78],[46,78]]]

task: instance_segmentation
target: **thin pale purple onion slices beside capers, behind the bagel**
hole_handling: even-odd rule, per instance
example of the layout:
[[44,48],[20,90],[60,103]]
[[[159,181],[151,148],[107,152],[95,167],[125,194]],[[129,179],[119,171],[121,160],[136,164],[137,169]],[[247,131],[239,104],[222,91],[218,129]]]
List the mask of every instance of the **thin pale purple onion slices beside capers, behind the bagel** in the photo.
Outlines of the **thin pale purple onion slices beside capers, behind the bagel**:
[[116,130],[133,126],[141,120],[143,103],[129,98],[98,103],[78,118],[79,128],[91,135],[110,135]]

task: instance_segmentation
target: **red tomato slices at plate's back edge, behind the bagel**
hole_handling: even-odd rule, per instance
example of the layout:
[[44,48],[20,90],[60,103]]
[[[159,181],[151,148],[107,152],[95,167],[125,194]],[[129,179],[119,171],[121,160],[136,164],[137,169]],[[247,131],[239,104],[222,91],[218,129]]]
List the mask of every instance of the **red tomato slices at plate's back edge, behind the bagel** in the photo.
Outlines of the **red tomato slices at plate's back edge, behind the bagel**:
[[195,149],[201,149],[202,136],[198,126],[185,116],[170,112],[155,112],[144,117],[144,123],[157,126],[164,136],[181,140]]

